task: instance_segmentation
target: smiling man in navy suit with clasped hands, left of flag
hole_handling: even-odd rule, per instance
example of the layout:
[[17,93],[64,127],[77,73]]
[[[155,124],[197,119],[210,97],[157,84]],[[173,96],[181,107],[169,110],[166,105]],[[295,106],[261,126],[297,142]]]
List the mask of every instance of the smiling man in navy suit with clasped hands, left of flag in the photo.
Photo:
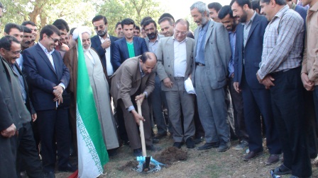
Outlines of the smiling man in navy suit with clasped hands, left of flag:
[[[60,40],[60,30],[54,25],[46,25],[40,31],[37,45],[23,51],[24,69],[32,94],[33,107],[38,114],[43,169],[49,177],[54,177],[55,141],[59,157],[60,171],[75,171],[69,162],[70,127],[67,119],[67,105],[62,93],[70,80],[70,72],[55,45]],[[66,103],[65,103],[66,104]]]

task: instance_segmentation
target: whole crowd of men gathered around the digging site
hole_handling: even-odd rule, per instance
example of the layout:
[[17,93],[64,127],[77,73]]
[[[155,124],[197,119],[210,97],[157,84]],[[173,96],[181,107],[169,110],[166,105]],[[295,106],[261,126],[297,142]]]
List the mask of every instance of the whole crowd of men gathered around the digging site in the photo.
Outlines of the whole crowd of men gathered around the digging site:
[[[298,3],[298,4],[297,4]],[[307,6],[304,8],[303,6]],[[308,7],[309,6],[309,7]],[[0,3],[0,18],[4,6]],[[109,34],[105,16],[72,28],[7,23],[0,39],[0,177],[55,177],[75,172],[77,49],[84,59],[109,156],[128,145],[142,155],[162,138],[197,150],[263,154],[273,175],[311,177],[317,157],[318,0],[195,2],[185,19],[163,13],[138,27],[125,18]],[[5,17],[4,17],[5,18]],[[160,28],[161,32],[158,32]],[[194,88],[194,90],[191,90]],[[195,93],[195,95],[194,95]],[[143,115],[136,101],[141,101]],[[157,133],[153,131],[157,127]],[[5,154],[4,154],[5,153]],[[40,154],[40,157],[39,157]]]

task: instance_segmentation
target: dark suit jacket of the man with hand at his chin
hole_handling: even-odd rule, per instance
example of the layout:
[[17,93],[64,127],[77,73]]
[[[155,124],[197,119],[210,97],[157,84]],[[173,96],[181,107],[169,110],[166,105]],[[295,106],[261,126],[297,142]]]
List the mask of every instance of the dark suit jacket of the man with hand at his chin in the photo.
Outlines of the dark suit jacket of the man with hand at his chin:
[[[111,40],[111,65],[114,66],[114,42],[116,40],[119,40],[118,37],[114,37],[109,35],[109,40]],[[102,42],[99,39],[99,35],[95,35],[94,37],[91,38],[91,42],[92,42],[92,48],[95,49],[95,51],[97,52],[97,54],[99,55],[99,58],[102,60],[102,64],[104,66],[104,69],[106,68],[106,57],[105,57],[105,49],[103,49],[102,47]]]

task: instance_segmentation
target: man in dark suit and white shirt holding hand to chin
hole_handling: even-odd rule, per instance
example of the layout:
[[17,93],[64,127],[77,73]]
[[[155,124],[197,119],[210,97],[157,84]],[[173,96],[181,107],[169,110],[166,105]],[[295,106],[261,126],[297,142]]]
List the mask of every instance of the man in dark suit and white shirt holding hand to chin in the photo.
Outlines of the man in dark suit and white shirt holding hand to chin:
[[95,32],[97,35],[91,38],[92,48],[94,48],[102,60],[104,69],[106,69],[107,77],[113,75],[113,53],[114,53],[114,42],[119,40],[118,37],[109,35],[107,31],[107,19],[105,16],[95,16],[92,20]]

